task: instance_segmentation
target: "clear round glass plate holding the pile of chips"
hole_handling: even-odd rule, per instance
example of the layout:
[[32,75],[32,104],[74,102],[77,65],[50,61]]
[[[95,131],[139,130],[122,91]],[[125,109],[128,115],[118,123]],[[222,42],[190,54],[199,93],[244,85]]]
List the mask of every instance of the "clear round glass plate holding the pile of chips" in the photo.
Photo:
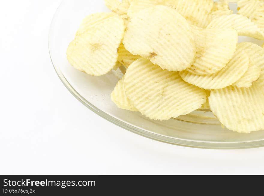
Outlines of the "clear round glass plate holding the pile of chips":
[[[230,5],[236,10],[236,5]],[[93,77],[74,69],[66,58],[82,19],[92,13],[109,12],[104,1],[64,0],[57,9],[49,32],[49,52],[58,77],[66,88],[90,110],[114,124],[154,140],[198,148],[233,149],[264,146],[264,131],[239,134],[223,128],[209,111],[194,111],[169,121],[150,120],[139,112],[116,107],[110,93],[122,77],[122,71]],[[240,41],[263,41],[240,37]]]

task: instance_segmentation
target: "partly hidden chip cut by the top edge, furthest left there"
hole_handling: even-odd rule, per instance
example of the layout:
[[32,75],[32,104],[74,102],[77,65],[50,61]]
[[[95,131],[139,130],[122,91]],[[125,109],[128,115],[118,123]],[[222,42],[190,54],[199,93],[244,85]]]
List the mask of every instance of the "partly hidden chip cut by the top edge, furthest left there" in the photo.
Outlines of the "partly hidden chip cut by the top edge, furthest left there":
[[129,0],[122,0],[122,2],[119,0],[104,0],[104,2],[107,8],[119,15],[126,15],[130,7]]

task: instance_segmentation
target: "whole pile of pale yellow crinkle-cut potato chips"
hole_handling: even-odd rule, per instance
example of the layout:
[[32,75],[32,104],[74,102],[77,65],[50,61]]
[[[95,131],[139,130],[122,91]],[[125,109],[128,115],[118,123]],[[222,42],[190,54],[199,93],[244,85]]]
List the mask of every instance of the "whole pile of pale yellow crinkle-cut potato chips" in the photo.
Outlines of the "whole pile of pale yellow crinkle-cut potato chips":
[[[229,9],[237,2],[238,14]],[[169,120],[211,110],[226,128],[264,129],[264,0],[105,0],[67,50],[76,69],[100,76],[123,66],[119,108]]]

